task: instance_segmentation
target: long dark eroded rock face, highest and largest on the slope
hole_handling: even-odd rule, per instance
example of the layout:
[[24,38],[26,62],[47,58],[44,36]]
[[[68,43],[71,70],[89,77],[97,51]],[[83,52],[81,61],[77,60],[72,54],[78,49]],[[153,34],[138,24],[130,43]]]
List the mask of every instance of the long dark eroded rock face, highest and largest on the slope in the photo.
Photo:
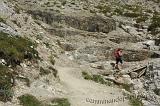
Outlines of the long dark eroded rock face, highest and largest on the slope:
[[53,22],[64,23],[70,27],[89,31],[108,33],[116,29],[113,19],[102,18],[101,16],[67,16],[56,12],[28,11],[35,19],[52,24]]

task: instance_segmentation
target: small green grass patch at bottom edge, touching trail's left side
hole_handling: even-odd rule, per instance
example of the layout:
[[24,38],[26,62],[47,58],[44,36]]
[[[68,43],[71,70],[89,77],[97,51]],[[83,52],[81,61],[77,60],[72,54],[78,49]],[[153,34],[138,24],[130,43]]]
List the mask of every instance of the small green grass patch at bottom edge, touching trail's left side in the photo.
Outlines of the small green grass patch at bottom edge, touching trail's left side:
[[53,106],[70,106],[68,99],[66,98],[55,98],[51,101],[54,105]]

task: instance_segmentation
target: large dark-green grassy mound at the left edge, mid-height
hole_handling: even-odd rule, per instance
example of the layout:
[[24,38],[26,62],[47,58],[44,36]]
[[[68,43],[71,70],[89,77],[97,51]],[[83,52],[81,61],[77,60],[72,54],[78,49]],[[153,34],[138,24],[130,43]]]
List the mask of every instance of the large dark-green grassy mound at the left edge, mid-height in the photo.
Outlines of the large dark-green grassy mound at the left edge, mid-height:
[[0,58],[4,59],[7,65],[16,66],[25,59],[38,59],[35,47],[36,45],[27,38],[0,32]]

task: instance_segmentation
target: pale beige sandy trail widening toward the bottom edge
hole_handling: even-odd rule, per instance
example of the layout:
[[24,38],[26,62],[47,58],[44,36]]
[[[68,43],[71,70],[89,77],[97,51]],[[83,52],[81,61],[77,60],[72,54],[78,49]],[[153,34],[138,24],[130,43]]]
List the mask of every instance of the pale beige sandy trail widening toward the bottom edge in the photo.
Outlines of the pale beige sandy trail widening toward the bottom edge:
[[122,90],[82,78],[79,66],[56,64],[61,84],[68,90],[72,106],[129,106]]

